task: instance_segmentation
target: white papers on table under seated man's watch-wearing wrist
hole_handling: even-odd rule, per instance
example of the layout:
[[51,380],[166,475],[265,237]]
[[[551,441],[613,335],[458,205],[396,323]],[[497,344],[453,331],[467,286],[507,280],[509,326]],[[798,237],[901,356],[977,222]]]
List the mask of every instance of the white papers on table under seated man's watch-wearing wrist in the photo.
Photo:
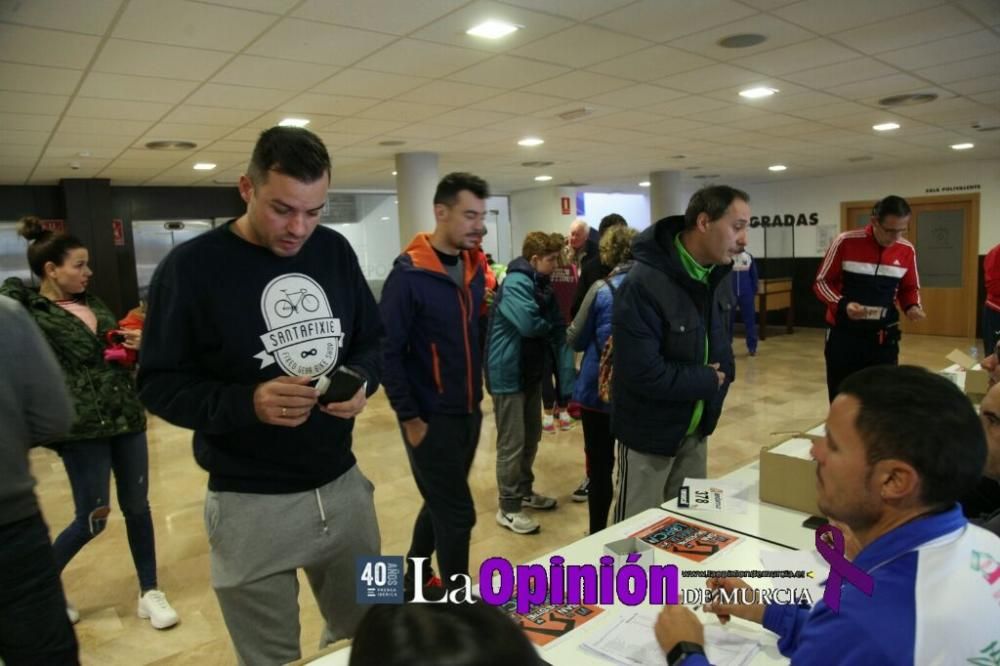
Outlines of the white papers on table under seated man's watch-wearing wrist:
[[[583,647],[619,664],[663,666],[664,655],[653,627],[656,609],[623,613],[606,631],[583,642]],[[705,656],[715,666],[744,666],[760,644],[719,625],[705,626]]]

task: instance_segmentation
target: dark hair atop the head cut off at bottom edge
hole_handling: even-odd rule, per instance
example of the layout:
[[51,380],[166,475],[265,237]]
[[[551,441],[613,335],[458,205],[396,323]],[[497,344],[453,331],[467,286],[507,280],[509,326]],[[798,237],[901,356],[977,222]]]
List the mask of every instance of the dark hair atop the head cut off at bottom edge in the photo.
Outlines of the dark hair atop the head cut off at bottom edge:
[[350,666],[531,666],[527,636],[499,609],[475,604],[372,606],[358,626]]

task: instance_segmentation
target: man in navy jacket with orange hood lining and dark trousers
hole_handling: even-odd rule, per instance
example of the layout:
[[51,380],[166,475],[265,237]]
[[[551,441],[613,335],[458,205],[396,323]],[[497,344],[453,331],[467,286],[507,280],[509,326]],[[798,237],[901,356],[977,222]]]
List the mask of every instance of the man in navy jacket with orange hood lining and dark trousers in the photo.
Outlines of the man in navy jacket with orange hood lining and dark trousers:
[[482,179],[445,176],[434,194],[433,233],[417,234],[399,255],[379,304],[387,331],[382,382],[424,499],[406,555],[408,599],[443,592],[430,566],[412,558],[429,560],[437,551],[444,586],[461,587],[457,574],[469,573],[476,509],[468,475],[482,423],[479,313],[485,289],[474,250],[485,228],[487,197]]

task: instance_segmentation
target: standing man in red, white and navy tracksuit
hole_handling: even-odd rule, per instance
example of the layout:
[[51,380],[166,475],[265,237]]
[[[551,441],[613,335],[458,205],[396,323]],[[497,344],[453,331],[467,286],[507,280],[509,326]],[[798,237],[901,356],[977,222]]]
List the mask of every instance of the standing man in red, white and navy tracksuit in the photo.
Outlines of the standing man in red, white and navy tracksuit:
[[826,385],[833,402],[848,375],[899,362],[899,311],[911,321],[926,315],[913,245],[903,238],[910,206],[888,196],[872,208],[864,229],[845,231],[830,245],[813,291],[826,303]]

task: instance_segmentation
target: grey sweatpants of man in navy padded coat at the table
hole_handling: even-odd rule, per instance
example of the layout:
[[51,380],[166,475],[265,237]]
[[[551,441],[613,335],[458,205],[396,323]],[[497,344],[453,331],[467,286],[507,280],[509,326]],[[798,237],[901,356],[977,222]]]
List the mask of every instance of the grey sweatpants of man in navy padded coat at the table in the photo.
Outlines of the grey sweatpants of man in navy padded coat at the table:
[[676,456],[640,453],[618,443],[618,495],[615,522],[677,497],[686,477],[708,475],[708,438],[688,435]]

